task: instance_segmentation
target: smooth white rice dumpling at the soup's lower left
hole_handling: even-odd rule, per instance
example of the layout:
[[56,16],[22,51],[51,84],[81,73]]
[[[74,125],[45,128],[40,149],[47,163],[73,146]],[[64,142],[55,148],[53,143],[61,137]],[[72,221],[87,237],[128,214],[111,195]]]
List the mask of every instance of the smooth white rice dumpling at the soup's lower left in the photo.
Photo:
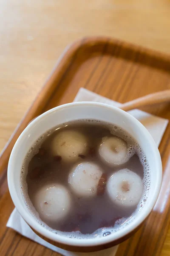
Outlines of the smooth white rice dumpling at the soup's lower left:
[[35,193],[34,206],[42,220],[60,221],[71,209],[71,196],[64,186],[48,184]]

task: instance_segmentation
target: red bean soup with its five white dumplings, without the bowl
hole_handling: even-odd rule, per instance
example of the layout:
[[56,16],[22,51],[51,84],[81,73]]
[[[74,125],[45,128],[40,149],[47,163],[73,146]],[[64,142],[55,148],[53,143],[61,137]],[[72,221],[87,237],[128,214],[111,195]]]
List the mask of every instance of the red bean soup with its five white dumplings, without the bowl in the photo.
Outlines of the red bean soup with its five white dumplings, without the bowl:
[[26,206],[42,226],[95,238],[122,229],[143,209],[150,168],[122,128],[76,120],[40,134],[25,157],[20,184]]

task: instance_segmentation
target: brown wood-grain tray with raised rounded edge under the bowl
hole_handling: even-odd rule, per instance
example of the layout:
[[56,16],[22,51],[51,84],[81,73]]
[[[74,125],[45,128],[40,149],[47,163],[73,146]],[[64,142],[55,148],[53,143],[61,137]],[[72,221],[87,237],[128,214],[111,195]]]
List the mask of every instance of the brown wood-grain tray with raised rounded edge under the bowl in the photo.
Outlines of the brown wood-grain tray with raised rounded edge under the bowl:
[[[170,57],[111,38],[84,38],[68,47],[41,92],[20,122],[0,158],[0,255],[58,255],[26,239],[6,222],[14,209],[8,192],[7,165],[17,137],[34,117],[57,105],[72,102],[80,87],[127,102],[170,89]],[[170,106],[147,109],[170,119]],[[170,126],[159,146],[164,176],[155,210],[140,230],[119,246],[116,256],[158,256],[170,223]]]

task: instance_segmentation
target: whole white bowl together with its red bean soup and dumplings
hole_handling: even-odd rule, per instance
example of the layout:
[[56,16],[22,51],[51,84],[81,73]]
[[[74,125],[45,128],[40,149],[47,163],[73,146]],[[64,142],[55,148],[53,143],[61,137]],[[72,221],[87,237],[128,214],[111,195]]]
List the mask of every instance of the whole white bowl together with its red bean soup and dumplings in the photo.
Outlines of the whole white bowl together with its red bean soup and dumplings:
[[133,116],[76,102],[32,121],[8,164],[11,198],[30,227],[52,244],[93,251],[127,239],[159,195],[159,150]]

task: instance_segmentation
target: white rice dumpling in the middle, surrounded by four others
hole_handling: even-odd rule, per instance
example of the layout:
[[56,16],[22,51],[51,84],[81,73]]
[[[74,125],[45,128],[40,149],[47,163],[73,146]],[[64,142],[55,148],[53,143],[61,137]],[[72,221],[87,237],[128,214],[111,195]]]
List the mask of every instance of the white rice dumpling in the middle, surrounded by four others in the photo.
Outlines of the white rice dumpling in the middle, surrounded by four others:
[[102,176],[102,170],[94,163],[80,163],[71,170],[68,183],[75,194],[83,197],[94,197]]

